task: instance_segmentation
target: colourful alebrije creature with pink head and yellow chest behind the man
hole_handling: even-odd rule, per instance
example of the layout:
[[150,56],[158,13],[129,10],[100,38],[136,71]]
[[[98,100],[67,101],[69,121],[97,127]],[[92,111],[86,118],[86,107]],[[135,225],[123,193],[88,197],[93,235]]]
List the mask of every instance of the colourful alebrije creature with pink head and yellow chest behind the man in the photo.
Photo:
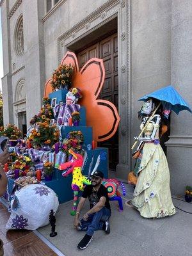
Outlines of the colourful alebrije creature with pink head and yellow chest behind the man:
[[[76,214],[77,202],[79,191],[83,191],[84,185],[90,185],[92,182],[81,173],[81,167],[83,166],[83,156],[74,153],[72,150],[68,150],[72,154],[72,159],[67,163],[60,164],[59,170],[63,170],[63,177],[72,173],[72,189],[74,191],[74,204],[72,207],[71,215]],[[116,179],[103,179],[102,184],[108,189],[109,200],[117,200],[119,204],[119,211],[123,211],[122,198],[118,187],[122,186],[123,195],[125,196],[124,184]]]

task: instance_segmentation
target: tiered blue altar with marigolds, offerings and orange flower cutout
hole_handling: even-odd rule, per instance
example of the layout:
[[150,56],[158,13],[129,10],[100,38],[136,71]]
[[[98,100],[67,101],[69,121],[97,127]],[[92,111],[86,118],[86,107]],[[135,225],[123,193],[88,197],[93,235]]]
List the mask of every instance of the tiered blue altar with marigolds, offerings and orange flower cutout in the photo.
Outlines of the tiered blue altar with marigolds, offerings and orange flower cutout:
[[[97,141],[111,138],[120,118],[111,102],[97,99],[104,83],[102,60],[94,58],[93,64],[88,64],[89,68],[82,73],[84,79],[79,76],[74,60],[75,54],[67,52],[45,84],[42,108],[31,118],[26,138],[10,148],[12,160],[7,166],[10,201],[15,198],[15,191],[28,184],[45,184],[58,195],[60,204],[71,200],[74,197],[71,177],[63,178],[58,170],[60,164],[70,161],[69,150],[83,157],[83,175],[88,175],[90,164],[96,164],[101,156],[97,167],[108,178],[108,148],[98,148]],[[22,157],[30,159],[30,166],[21,161]]]

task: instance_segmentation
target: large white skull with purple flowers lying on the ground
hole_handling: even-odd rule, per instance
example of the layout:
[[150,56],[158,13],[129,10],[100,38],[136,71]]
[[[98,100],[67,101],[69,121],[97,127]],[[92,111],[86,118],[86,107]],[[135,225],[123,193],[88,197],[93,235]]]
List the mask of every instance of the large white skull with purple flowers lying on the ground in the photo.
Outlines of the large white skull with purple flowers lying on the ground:
[[49,224],[51,210],[59,206],[56,193],[47,186],[33,184],[15,192],[6,229],[35,230]]

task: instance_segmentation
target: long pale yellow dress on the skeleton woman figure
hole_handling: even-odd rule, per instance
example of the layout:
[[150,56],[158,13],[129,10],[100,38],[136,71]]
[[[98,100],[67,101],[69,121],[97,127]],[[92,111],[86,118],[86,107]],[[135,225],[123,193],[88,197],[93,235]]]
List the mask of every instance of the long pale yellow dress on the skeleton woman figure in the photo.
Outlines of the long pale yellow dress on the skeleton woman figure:
[[[148,124],[145,136],[149,136],[156,124]],[[158,129],[159,130],[159,129]],[[158,132],[157,132],[157,139]],[[166,156],[159,143],[145,143],[138,171],[132,205],[145,218],[163,218],[175,214],[170,192],[170,172]]]

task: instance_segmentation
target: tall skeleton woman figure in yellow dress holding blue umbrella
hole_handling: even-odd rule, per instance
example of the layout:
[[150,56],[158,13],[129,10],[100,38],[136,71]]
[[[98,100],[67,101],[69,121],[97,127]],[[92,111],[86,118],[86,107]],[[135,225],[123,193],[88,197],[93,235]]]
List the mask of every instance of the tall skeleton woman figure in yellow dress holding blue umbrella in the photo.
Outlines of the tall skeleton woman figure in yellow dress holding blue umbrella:
[[[191,112],[191,109],[172,86],[145,95],[140,100],[145,103],[138,112],[141,133],[134,138],[140,141],[140,145],[134,153],[134,156],[138,153],[134,168],[137,180],[134,180],[136,187],[131,204],[145,218],[163,218],[175,214],[176,210],[170,193],[168,163],[159,144],[161,122],[163,118],[168,118],[172,110],[178,115],[181,110]],[[128,182],[131,182],[129,178]]]

